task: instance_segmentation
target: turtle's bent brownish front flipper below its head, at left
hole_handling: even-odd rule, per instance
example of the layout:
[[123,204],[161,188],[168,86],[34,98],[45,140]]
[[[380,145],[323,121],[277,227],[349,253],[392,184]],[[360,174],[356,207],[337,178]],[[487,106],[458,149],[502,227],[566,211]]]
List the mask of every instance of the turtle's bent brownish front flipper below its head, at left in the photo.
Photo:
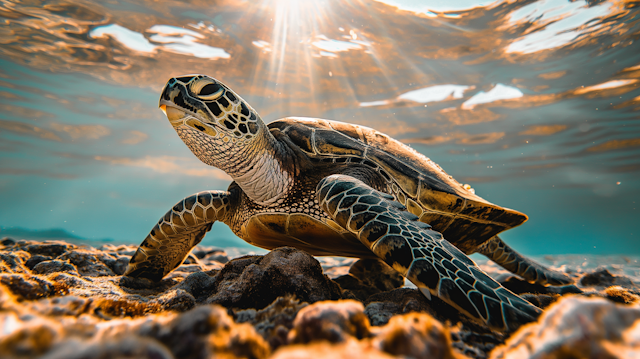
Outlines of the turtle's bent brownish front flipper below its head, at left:
[[159,282],[224,218],[229,196],[227,191],[204,191],[178,202],[140,244],[124,275]]

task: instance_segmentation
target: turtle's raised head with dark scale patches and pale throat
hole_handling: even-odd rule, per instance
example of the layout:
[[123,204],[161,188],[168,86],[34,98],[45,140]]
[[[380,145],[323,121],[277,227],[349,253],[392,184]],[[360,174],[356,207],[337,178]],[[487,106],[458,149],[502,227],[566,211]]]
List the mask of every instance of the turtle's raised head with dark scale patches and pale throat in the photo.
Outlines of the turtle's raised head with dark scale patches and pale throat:
[[258,113],[222,82],[205,75],[170,79],[160,109],[202,162],[227,173],[235,156],[255,147],[266,125]]

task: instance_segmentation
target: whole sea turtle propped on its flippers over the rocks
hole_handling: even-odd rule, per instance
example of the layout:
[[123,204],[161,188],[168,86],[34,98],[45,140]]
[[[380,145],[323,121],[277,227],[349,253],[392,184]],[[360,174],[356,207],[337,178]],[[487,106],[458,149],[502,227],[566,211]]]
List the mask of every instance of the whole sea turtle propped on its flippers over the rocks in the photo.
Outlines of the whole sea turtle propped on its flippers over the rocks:
[[497,237],[526,215],[480,198],[383,133],[296,117],[266,125],[234,91],[205,75],[170,79],[159,106],[196,157],[234,182],[227,191],[199,192],[173,206],[133,255],[126,276],[160,281],[222,221],[266,249],[380,258],[428,298],[436,295],[499,330],[541,311],[467,254],[482,253],[532,282],[571,282]]

